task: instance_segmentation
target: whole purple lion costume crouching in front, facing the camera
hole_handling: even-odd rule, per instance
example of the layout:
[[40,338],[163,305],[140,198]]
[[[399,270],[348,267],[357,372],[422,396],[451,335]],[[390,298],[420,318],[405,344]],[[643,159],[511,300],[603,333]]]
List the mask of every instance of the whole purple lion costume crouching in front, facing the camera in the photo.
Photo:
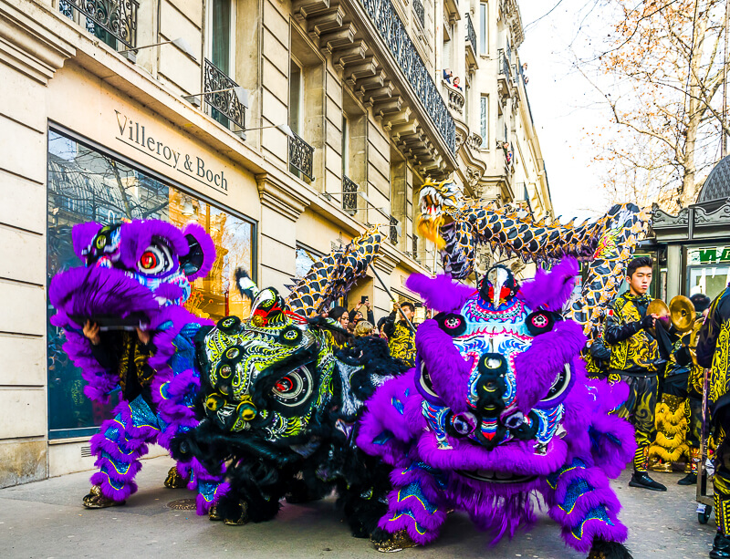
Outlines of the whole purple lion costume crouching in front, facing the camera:
[[360,424],[360,449],[394,467],[381,551],[432,542],[454,508],[494,543],[511,538],[536,521],[539,492],[569,546],[631,557],[609,485],[636,446],[611,415],[626,387],[586,378],[586,337],[562,315],[577,273],[565,259],[520,289],[497,265],[478,291],[409,278],[442,312],[418,329],[416,367],[378,388]]

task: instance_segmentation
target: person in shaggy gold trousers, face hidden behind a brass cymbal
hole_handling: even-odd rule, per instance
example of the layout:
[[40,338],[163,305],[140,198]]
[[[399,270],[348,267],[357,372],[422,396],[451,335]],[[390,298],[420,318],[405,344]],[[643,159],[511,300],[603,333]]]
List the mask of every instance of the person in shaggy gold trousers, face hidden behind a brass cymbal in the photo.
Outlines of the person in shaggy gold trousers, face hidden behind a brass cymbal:
[[[649,457],[662,459],[662,465],[652,466],[657,471],[672,471],[673,462],[686,457],[686,475],[677,483],[692,485],[697,481],[700,461],[703,389],[702,367],[694,364],[694,347],[710,298],[703,294],[695,294],[692,299],[677,295],[669,306],[660,300],[652,305],[659,307],[659,316],[669,317],[673,346],[661,387],[662,402],[656,409],[659,432]],[[660,320],[660,324],[665,323]]]

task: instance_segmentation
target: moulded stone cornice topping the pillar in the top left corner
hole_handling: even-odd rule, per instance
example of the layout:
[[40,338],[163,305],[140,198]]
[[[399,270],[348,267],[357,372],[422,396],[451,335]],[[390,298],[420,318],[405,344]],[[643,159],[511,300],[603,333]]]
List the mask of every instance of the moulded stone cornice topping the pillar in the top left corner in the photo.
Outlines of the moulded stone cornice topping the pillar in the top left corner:
[[76,48],[44,26],[40,13],[37,5],[0,0],[0,61],[47,85]]

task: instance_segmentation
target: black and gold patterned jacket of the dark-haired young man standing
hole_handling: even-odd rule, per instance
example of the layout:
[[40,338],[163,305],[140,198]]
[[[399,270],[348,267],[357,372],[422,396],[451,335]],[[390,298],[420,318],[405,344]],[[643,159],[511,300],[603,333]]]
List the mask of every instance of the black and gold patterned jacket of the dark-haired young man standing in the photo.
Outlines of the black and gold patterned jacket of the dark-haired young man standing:
[[[626,326],[631,322],[640,321],[643,316],[638,305],[646,306],[649,297],[646,295],[619,295],[611,305],[611,314],[606,321],[606,327]],[[605,335],[604,335],[605,338]],[[658,368],[655,361],[659,357],[656,340],[643,329],[628,339],[610,345],[609,368],[620,371],[643,369],[646,373],[655,373]]]

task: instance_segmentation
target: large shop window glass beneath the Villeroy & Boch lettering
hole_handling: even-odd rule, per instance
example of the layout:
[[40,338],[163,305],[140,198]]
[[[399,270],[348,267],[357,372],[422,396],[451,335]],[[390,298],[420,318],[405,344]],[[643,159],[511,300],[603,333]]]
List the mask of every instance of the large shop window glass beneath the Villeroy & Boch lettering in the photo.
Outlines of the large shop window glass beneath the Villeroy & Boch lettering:
[[[76,223],[161,219],[182,226],[196,222],[213,237],[217,254],[212,272],[193,282],[186,307],[196,316],[213,320],[248,315],[248,304],[235,288],[235,269],[255,272],[253,223],[53,130],[48,133],[47,171],[48,282],[58,272],[81,264],[71,242]],[[47,317],[54,312],[48,303]],[[89,401],[83,394],[80,369],[62,349],[63,331],[48,323],[47,336],[49,438],[92,434],[110,417],[117,399],[112,396],[108,407]]]

